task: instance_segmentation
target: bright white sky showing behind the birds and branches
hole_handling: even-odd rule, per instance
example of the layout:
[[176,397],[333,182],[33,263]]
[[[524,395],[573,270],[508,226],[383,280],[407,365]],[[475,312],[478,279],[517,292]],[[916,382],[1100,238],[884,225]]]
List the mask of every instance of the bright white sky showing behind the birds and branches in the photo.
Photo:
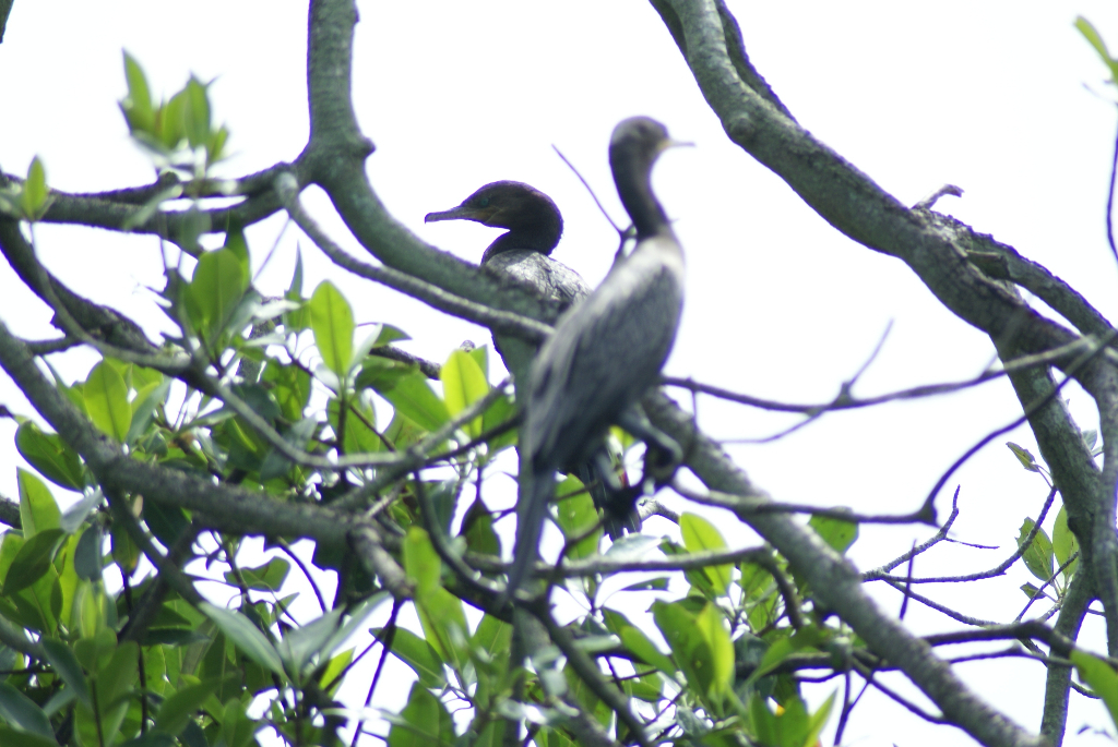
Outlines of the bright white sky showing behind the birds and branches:
[[[1118,316],[1118,268],[1103,232],[1114,94],[1095,52],[1071,26],[1082,13],[1118,49],[1114,3],[730,7],[755,65],[817,137],[902,202],[911,204],[945,182],[958,184],[965,195],[945,198],[938,209],[1014,246],[1109,318]],[[476,260],[496,230],[424,226],[423,216],[457,204],[486,182],[525,181],[563,211],[567,231],[555,257],[597,282],[615,238],[551,145],[578,165],[620,220],[606,144],[619,119],[647,114],[697,144],[670,152],[654,179],[678,219],[689,262],[686,309],[669,373],[771,399],[824,401],[859,368],[890,319],[889,342],[855,393],[965,379],[991,360],[988,339],[946,312],[901,262],[839,234],[729,144],[648,4],[360,2],[359,9],[353,95],[360,124],[377,144],[368,171],[396,218],[425,240]],[[236,153],[221,166],[224,175],[290,161],[307,134],[305,33],[304,3],[283,0],[19,0],[0,45],[0,165],[23,173],[39,154],[49,183],[68,191],[150,181],[150,163],[130,142],[116,106],[124,94],[122,48],[144,66],[157,95],[178,90],[191,71],[217,78],[215,117],[228,124]],[[306,201],[335,239],[360,253],[321,193],[309,191]],[[249,233],[256,266],[281,226],[273,218]],[[288,231],[258,282],[265,295],[287,285],[295,233]],[[121,309],[153,335],[167,329],[144,289],[161,285],[153,239],[48,226],[37,239],[42,259],[76,291]],[[463,339],[487,342],[479,327],[345,278],[307,241],[302,247],[305,289],[333,279],[359,320],[401,326],[415,338],[406,347],[416,354],[440,361]],[[11,272],[0,274],[0,318],[20,335],[53,334],[45,307]],[[74,357],[59,365],[67,375],[84,376],[93,356]],[[1090,400],[1068,391],[1080,424],[1093,427]],[[0,380],[0,402],[30,414],[7,380]],[[907,511],[965,449],[1018,413],[1008,384],[997,382],[934,401],[832,414],[775,444],[735,447],[733,453],[778,500]],[[709,400],[700,402],[700,418],[722,438],[765,435],[789,423]],[[8,496],[17,495],[12,467],[20,463],[13,431],[10,421],[0,421],[0,491]],[[1025,430],[1007,438],[1036,453]],[[1003,441],[949,483],[961,485],[954,536],[1001,549],[937,549],[918,562],[918,574],[993,566],[1012,549],[1022,518],[1036,515],[1046,489]],[[939,501],[941,516],[949,495]],[[721,526],[732,546],[755,542],[745,529],[731,530],[736,524]],[[666,525],[651,529],[670,531]],[[863,528],[852,556],[869,568],[927,534]],[[1015,568],[982,586],[931,593],[969,614],[1008,621],[1024,603],[1017,586],[1029,580]],[[896,594],[874,591],[897,610]],[[956,626],[919,605],[909,614],[919,632]],[[1099,628],[1089,623],[1087,631],[1083,643],[1102,649]],[[406,670],[391,672],[398,684],[382,688],[386,707],[407,692],[399,679]],[[964,664],[959,672],[1017,722],[1038,728],[1040,664]],[[366,687],[354,682],[353,691]],[[818,701],[834,687],[808,692]],[[1083,725],[1112,729],[1099,705],[1073,696],[1065,744],[1101,744],[1097,736],[1076,735]],[[927,726],[871,693],[844,741],[908,746],[945,739],[969,744],[960,731]]]

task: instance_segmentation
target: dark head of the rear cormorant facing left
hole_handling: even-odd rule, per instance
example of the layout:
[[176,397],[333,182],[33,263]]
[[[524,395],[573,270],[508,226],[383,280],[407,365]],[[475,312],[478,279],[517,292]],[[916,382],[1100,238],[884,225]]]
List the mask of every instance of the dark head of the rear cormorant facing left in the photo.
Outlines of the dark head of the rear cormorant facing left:
[[[456,208],[429,212],[425,223],[440,220],[472,220],[483,226],[506,228],[522,234],[533,246],[518,247],[550,253],[562,234],[562,216],[543,192],[522,182],[493,182],[481,188]],[[511,248],[511,247],[510,247]]]

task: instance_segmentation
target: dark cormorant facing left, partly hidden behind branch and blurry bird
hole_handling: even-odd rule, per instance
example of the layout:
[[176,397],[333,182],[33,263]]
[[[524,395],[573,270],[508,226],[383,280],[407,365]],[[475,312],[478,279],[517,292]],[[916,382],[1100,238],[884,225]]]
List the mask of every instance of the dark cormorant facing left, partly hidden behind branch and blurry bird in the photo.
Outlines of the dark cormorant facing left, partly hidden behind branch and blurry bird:
[[[509,229],[485,249],[482,267],[555,304],[560,313],[590,295],[590,287],[578,272],[551,259],[562,236],[562,213],[551,198],[534,186],[514,181],[492,182],[457,207],[424,217],[425,223],[444,220],[471,220]],[[514,381],[527,382],[538,346],[500,334],[493,335],[493,345]],[[603,527],[610,539],[641,530],[635,494],[628,490],[624,470],[617,475],[615,465],[622,463],[622,457],[619,449],[603,448],[588,460],[563,467],[578,476],[603,510]]]

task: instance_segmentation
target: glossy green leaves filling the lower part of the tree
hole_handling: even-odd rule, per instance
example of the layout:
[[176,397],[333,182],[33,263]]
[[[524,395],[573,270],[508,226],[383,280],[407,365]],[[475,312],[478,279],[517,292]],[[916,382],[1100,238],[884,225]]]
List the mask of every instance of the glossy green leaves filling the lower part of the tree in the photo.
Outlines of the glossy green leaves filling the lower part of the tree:
[[[1114,69],[1095,29],[1079,28]],[[845,676],[841,724],[858,703],[852,673],[869,687],[880,669],[903,668],[880,641],[863,640],[852,615],[824,604],[833,590],[776,542],[735,549],[722,528],[685,511],[673,517],[681,542],[631,536],[603,552],[600,517],[574,476],[558,486],[553,516],[568,566],[548,591],[565,590],[579,613],[560,625],[546,604],[502,604],[493,583],[501,516],[486,505],[483,477],[517,443],[519,421],[512,394],[491,383],[487,348],[448,351],[436,375],[392,346],[407,338],[397,319],[359,322],[329,281],[304,293],[301,265],[283,298],[263,297],[237,220],[225,216],[222,247],[197,242],[215,232],[195,220],[207,200],[240,194],[212,179],[229,133],[212,124],[209,84],[191,77],[157,104],[127,54],[124,71],[121,111],[161,176],[117,228],[168,218],[168,201],[187,199],[176,242],[196,261],[189,277],[189,262],[167,268],[161,299],[176,332],[158,347],[114,337],[124,323],[82,327],[57,291],[44,293],[65,342],[100,360],[74,382],[28,364],[48,391],[28,374],[25,391],[44,415],[18,416],[16,446],[34,471],[18,472],[18,520],[0,540],[0,744],[246,747],[265,730],[292,745],[341,744],[368,714],[338,692],[358,668],[375,669],[373,647],[357,651],[352,635],[389,604],[387,624],[372,630],[377,648],[416,678],[405,707],[381,714],[394,747],[520,741],[521,721],[540,746],[578,744],[589,729],[623,744],[811,747],[837,690],[809,707],[802,670]],[[36,159],[26,179],[3,185],[0,211],[9,223],[49,220],[56,197]],[[12,356],[31,361],[32,347],[0,336],[9,373]],[[1051,471],[1007,446],[1051,492],[1035,519],[1023,519],[1017,552],[988,576],[1021,561],[1041,582],[1022,587],[1029,604],[1054,611],[1083,577],[1082,535],[1063,497],[1044,530],[1058,492]],[[1091,456],[1095,435],[1080,446]],[[142,489],[127,482],[140,468]],[[58,490],[72,494],[65,513]],[[754,497],[731,497],[723,507],[748,523]],[[866,519],[815,514],[795,526],[839,586],[855,575],[842,556]],[[912,556],[942,540],[951,520]],[[781,526],[790,534],[790,523]],[[249,536],[265,537],[268,556],[246,566]],[[291,552],[296,537],[315,540],[314,573]],[[654,552],[666,565],[644,564]],[[292,562],[281,553],[312,586],[337,575],[330,604],[314,588],[315,620],[292,617],[294,596],[282,596]],[[893,584],[907,603],[911,567],[907,580],[890,575],[906,559],[856,581]],[[625,577],[632,583],[617,594],[645,601],[651,624],[603,591],[632,571],[655,575]],[[202,596],[203,574],[226,587],[228,606]],[[398,624],[405,604],[419,632]],[[518,615],[542,622],[548,640],[532,645]],[[1005,632],[1018,636],[1026,633]],[[1055,635],[1049,642],[1118,714],[1115,662]],[[913,639],[913,657],[926,649]]]

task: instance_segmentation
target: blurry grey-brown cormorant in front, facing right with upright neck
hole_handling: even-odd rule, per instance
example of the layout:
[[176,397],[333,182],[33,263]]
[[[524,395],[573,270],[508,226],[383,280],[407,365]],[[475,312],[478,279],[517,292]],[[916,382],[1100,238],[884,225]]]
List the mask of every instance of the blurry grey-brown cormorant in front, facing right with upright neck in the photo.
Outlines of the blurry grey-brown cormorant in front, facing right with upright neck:
[[610,136],[609,166],[636,229],[636,246],[559,319],[532,362],[505,600],[513,597],[538,555],[555,472],[593,459],[612,424],[642,438],[672,463],[682,459],[679,446],[639,409],[672,349],[683,310],[683,250],[651,183],[659,155],[680,144],[650,117],[625,119]]

